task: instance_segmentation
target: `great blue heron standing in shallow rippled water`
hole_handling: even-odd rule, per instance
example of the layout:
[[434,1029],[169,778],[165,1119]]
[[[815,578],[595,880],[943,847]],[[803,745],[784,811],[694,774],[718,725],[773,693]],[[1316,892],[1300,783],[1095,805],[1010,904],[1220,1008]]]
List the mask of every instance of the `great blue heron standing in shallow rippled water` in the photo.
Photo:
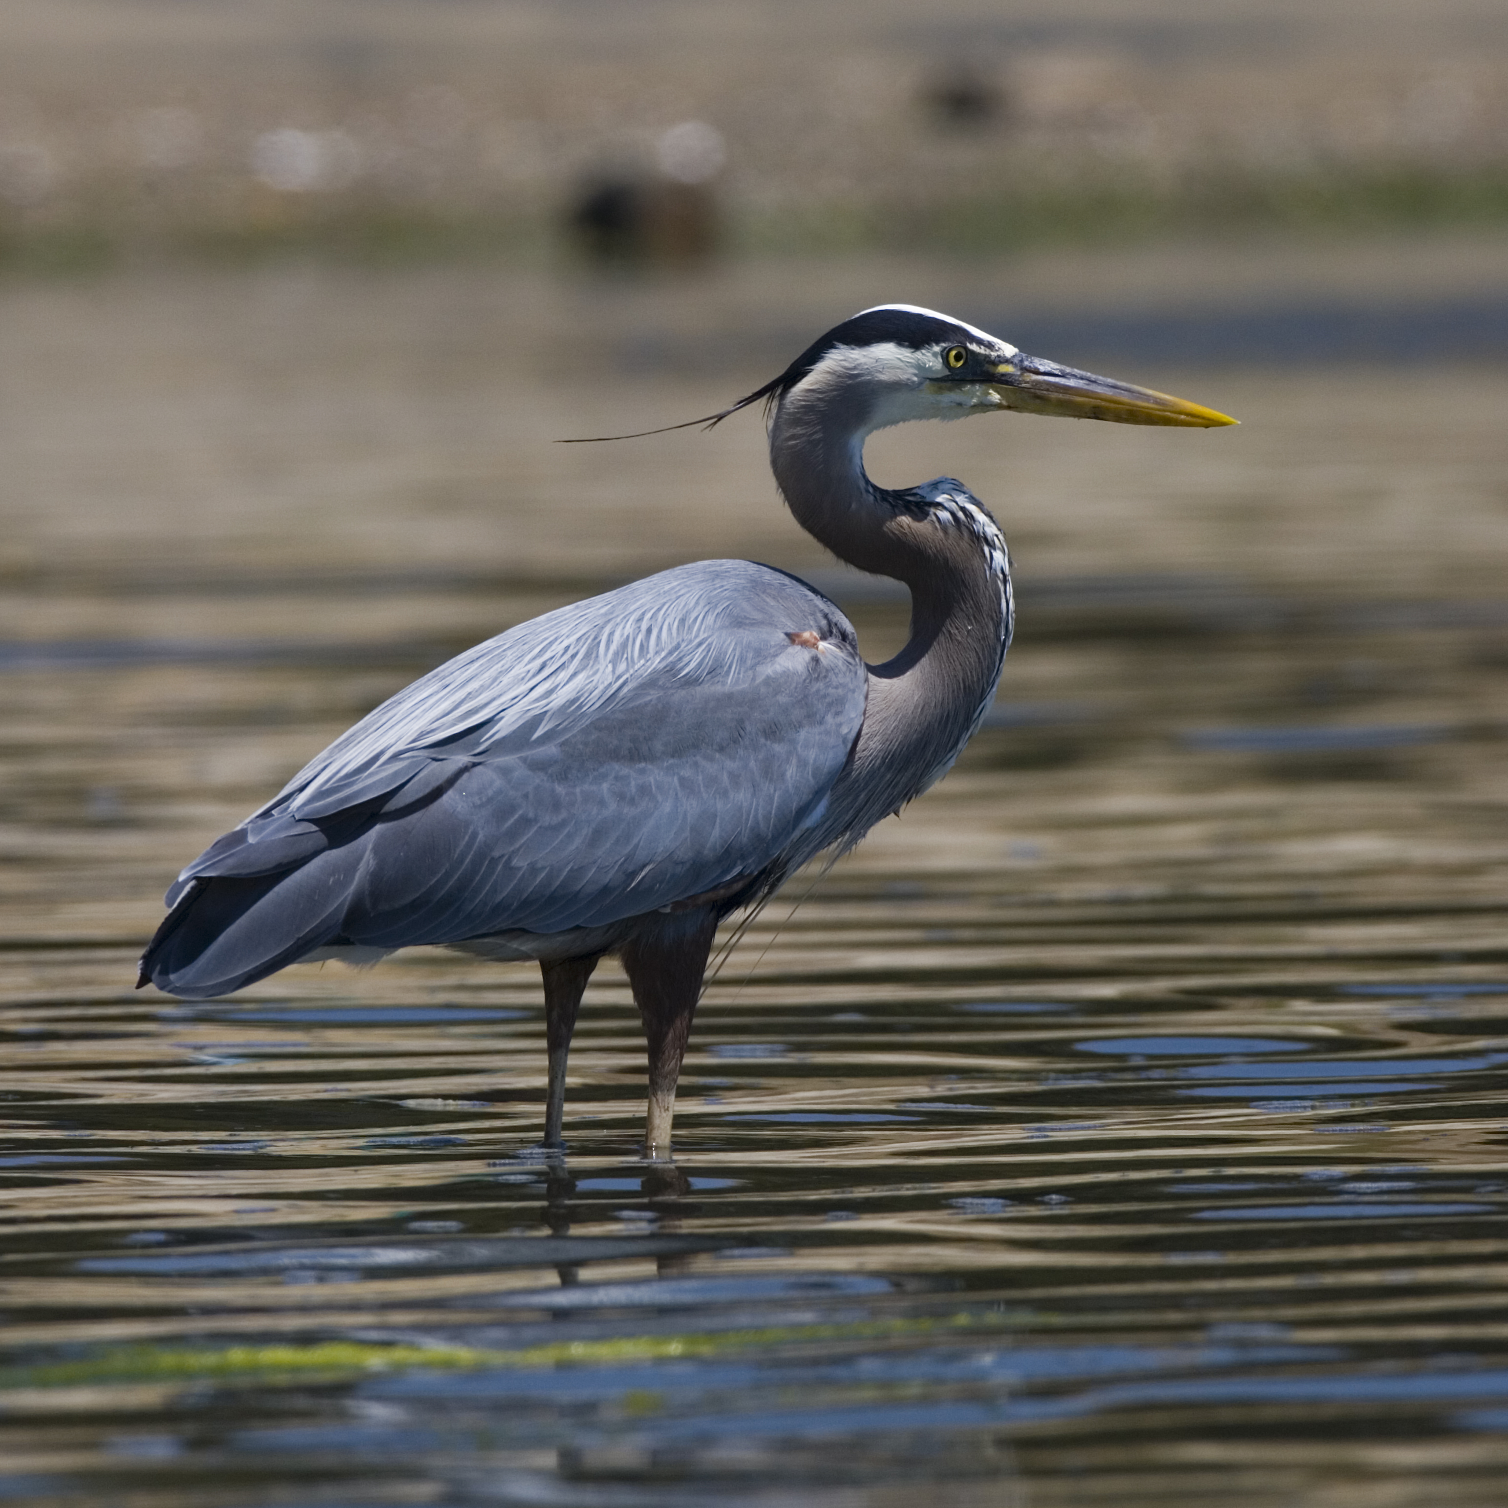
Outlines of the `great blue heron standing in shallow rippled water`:
[[576,1012],[597,961],[617,953],[648,1039],[645,1154],[667,1152],[719,920],[936,781],[1010,642],[995,520],[949,477],[876,486],[866,436],[1012,409],[1235,422],[912,305],[846,320],[706,422],[760,398],[796,520],[911,590],[894,659],[866,665],[820,591],[748,561],[682,566],[547,612],[400,691],[201,854],[167,891],[140,983],[204,998],[285,964],[421,942],[534,959],[544,1140],[559,1146]]

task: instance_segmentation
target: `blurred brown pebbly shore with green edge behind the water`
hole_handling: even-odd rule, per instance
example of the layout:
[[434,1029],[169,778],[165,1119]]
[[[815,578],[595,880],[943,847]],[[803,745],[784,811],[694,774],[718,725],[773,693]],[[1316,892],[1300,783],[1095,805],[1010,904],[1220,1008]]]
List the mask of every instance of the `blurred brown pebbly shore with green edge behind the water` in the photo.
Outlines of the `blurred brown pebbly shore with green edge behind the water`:
[[[654,184],[679,226],[614,241]],[[582,216],[686,265],[1503,235],[1508,23],[1475,0],[0,12],[0,271],[570,264]]]

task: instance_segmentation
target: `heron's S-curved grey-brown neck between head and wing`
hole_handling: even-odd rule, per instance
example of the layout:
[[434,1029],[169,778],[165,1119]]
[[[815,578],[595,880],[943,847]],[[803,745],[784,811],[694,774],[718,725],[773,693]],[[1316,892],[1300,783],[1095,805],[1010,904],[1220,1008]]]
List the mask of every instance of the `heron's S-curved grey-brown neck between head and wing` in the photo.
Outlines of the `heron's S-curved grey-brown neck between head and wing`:
[[870,481],[870,395],[802,388],[771,424],[790,511],[840,559],[911,591],[911,638],[869,667],[864,727],[823,823],[825,843],[851,844],[938,780],[979,727],[1010,642],[1009,558],[995,520],[959,483],[888,492]]

